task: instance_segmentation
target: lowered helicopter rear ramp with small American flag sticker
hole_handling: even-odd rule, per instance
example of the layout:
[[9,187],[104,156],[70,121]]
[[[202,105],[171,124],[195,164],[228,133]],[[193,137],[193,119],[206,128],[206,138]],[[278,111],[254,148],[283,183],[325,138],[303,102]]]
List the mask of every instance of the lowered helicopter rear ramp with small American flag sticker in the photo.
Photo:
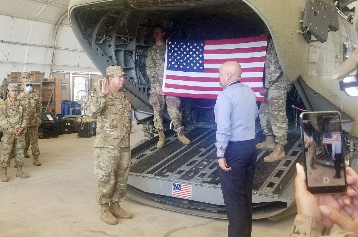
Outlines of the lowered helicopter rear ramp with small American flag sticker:
[[[166,132],[166,145],[156,148],[158,138],[132,149],[132,166],[127,196],[131,199],[173,211],[226,218],[224,201],[217,174],[216,130],[208,127],[187,127],[184,130],[192,143],[183,145],[175,132]],[[257,150],[253,183],[253,219],[280,214],[294,202],[295,163],[300,162],[301,135],[288,134],[286,159],[265,163],[267,150]],[[256,142],[265,136],[256,130]],[[176,193],[181,185],[187,193]]]

